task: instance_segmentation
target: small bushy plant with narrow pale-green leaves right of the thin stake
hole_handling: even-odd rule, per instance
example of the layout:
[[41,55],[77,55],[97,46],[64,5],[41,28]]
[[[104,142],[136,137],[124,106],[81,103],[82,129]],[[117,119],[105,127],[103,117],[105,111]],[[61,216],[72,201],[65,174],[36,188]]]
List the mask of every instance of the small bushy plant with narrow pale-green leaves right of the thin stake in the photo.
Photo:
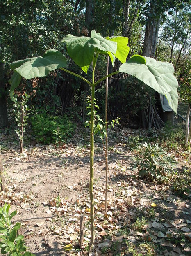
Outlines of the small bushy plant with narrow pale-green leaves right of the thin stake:
[[169,156],[158,144],[145,143],[143,146],[131,164],[132,170],[138,170],[141,179],[164,182],[176,173],[174,156]]

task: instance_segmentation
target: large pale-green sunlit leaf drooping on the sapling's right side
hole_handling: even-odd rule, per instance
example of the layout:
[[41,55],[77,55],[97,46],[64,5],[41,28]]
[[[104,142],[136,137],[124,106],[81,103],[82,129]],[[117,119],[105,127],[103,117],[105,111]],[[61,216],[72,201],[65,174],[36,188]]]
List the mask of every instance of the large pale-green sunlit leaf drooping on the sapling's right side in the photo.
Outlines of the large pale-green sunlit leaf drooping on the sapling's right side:
[[[143,59],[146,64],[143,63]],[[174,68],[171,63],[156,61],[153,58],[138,56],[130,58],[119,68],[120,72],[134,75],[145,84],[155,89],[155,91],[166,96],[169,106],[177,112],[178,82],[173,75]]]

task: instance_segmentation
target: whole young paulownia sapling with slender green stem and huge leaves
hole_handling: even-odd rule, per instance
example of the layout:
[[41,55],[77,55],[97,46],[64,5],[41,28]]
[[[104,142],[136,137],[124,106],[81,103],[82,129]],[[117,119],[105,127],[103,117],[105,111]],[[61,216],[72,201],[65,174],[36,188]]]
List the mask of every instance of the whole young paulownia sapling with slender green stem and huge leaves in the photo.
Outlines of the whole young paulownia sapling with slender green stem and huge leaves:
[[[94,94],[95,87],[107,77],[111,77],[119,72],[134,75],[136,78],[143,81],[145,84],[163,94],[168,99],[169,105],[177,111],[177,87],[178,83],[173,75],[173,65],[167,62],[156,61],[155,59],[134,55],[126,62],[129,53],[127,37],[102,37],[95,30],[91,31],[91,37],[76,37],[67,35],[61,41],[66,43],[66,48],[69,56],[73,61],[87,73],[90,65],[92,67],[92,79],[87,80],[79,74],[75,74],[66,67],[65,56],[57,50],[48,50],[41,57],[27,58],[25,60],[15,61],[10,64],[14,73],[9,80],[11,84],[10,96],[13,97],[14,89],[19,85],[21,77],[32,79],[34,77],[44,77],[50,71],[60,68],[65,72],[73,74],[85,81],[91,86],[91,119],[90,119],[90,218],[91,218],[91,241],[89,249],[91,250],[94,243],[94,195],[93,195],[93,157],[94,157]],[[95,81],[95,67],[99,54],[109,55],[111,62],[114,65],[115,58],[118,58],[123,63],[119,70]],[[125,63],[126,62],[126,63]]]

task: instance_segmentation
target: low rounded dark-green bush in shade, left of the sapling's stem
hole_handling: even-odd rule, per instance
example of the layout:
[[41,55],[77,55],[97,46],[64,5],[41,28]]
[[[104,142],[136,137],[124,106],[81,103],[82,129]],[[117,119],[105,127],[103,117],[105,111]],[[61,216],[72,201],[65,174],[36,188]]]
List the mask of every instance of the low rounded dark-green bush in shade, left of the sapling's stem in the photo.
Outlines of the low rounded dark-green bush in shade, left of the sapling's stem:
[[66,142],[75,129],[68,116],[52,116],[45,111],[31,117],[31,126],[36,141],[43,144]]

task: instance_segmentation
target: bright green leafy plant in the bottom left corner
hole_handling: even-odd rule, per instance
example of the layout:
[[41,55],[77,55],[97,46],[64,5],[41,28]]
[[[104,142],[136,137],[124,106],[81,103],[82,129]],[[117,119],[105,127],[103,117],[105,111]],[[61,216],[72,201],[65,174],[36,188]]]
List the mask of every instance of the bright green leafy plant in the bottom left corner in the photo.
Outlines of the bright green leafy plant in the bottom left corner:
[[13,224],[11,219],[16,215],[16,211],[9,214],[10,205],[0,208],[0,249],[1,254],[7,256],[34,256],[27,252],[23,235],[18,235],[21,223]]

